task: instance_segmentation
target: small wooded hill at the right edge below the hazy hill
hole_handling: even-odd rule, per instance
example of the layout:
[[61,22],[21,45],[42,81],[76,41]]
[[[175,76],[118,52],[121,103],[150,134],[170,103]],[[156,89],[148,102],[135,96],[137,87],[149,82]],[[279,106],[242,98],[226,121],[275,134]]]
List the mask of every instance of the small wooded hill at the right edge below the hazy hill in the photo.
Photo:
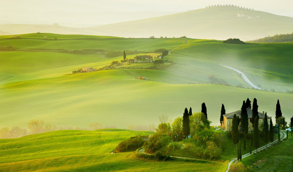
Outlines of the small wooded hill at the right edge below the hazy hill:
[[265,38],[260,38],[257,40],[252,40],[248,42],[258,42],[258,43],[287,43],[293,42],[293,33],[291,34],[280,34],[274,36],[267,36]]

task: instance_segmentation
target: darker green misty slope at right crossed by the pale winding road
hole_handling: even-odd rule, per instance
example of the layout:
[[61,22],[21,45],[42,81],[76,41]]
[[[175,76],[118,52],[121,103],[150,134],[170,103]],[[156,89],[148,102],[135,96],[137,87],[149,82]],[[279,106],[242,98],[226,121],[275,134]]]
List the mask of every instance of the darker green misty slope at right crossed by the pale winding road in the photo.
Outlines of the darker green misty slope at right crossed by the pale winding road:
[[[196,43],[197,41],[193,40],[189,42],[191,44],[175,49],[171,58],[174,61],[188,64],[187,69],[194,71],[191,73],[200,73],[202,80],[207,80],[208,75],[214,74],[219,78],[224,78],[229,84],[241,83],[229,78],[233,75],[235,77],[236,72],[219,65],[223,64],[241,70],[255,85],[261,85],[262,89],[275,89],[283,92],[293,89],[290,79],[293,77],[291,70],[293,65],[292,43],[234,45],[217,41]],[[180,68],[184,67],[180,66]],[[209,69],[208,72],[204,70],[205,68]]]

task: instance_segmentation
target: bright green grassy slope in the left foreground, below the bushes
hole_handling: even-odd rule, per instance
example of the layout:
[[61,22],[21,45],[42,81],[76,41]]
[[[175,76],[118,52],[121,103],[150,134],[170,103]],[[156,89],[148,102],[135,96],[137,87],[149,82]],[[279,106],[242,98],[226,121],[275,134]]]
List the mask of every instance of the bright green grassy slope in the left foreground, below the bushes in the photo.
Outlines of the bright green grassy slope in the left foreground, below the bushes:
[[[110,154],[119,142],[148,131],[53,131],[0,139],[1,171],[225,171],[221,163],[145,161]],[[174,168],[174,166],[176,168]]]

